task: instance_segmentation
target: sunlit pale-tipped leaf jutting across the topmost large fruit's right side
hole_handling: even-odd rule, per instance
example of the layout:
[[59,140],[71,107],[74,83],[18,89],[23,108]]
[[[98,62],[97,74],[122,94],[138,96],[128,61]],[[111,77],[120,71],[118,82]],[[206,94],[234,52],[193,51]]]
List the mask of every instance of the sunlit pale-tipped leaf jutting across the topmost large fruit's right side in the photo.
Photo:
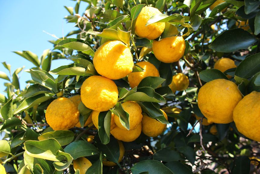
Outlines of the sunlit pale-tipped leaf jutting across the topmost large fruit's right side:
[[[173,14],[173,15],[165,15],[165,14],[159,14],[159,15],[153,15],[145,24],[145,26],[157,23],[157,22],[180,22],[184,18],[184,16],[180,14]],[[188,19],[188,18],[187,18]]]

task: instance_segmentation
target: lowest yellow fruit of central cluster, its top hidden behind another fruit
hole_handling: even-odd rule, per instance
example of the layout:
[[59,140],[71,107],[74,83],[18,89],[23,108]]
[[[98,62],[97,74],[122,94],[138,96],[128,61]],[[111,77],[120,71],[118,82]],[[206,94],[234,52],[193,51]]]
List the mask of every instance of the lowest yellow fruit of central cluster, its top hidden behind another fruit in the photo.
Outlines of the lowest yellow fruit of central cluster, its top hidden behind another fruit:
[[113,130],[111,130],[111,134],[117,139],[124,142],[131,142],[134,141],[140,136],[142,130],[142,124],[139,123],[136,129],[134,130],[125,130],[120,129],[116,126]]

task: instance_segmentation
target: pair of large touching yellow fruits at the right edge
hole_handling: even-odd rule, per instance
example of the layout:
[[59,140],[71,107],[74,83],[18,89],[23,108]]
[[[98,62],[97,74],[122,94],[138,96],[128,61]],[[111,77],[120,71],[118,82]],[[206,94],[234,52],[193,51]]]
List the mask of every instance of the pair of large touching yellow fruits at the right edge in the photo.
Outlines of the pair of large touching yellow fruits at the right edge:
[[198,107],[208,123],[225,124],[234,121],[240,133],[260,141],[260,92],[253,91],[242,98],[235,83],[215,79],[199,90]]

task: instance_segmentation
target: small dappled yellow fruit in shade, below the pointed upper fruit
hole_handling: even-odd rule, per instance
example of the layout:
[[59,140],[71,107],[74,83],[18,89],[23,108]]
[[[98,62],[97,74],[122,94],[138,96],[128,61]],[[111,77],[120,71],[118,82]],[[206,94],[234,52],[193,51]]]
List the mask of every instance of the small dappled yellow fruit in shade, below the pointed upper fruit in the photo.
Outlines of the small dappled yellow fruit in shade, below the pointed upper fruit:
[[189,78],[182,73],[178,73],[174,75],[172,83],[169,85],[173,93],[175,93],[176,90],[178,91],[185,90],[187,89],[188,86],[189,86]]

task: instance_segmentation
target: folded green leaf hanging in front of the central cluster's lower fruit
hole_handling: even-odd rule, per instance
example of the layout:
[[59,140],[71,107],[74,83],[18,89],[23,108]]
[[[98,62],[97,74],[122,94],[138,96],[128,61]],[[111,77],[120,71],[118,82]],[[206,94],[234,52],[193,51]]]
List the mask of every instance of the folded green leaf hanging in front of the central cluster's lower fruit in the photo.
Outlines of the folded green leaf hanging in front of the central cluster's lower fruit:
[[[132,95],[132,94],[130,94]],[[119,117],[120,123],[127,129],[130,129],[129,113],[124,110],[121,102],[117,102],[114,109],[110,109],[115,114],[114,117]]]

